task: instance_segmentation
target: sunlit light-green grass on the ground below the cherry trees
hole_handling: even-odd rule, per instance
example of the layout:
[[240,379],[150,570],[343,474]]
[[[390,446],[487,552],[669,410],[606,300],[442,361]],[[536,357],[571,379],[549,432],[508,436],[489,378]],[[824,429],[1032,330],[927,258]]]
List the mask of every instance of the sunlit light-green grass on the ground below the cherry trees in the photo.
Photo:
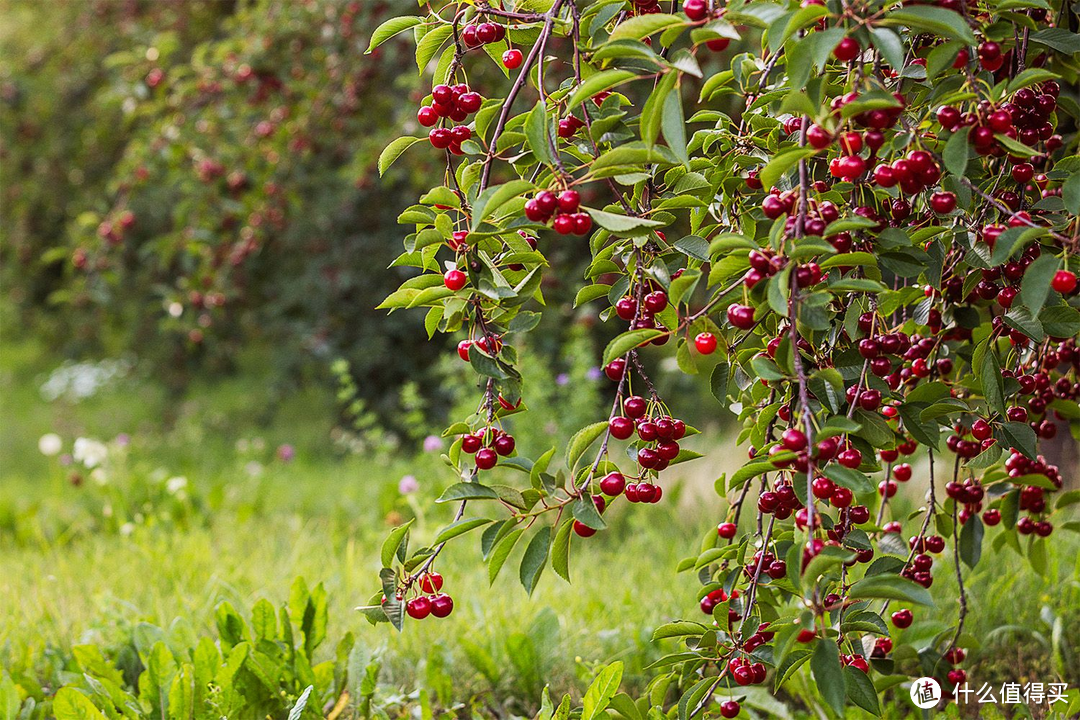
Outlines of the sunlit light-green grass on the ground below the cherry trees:
[[[609,531],[577,543],[575,584],[549,570],[531,598],[513,560],[489,587],[478,538],[455,543],[440,559],[454,614],[396,634],[372,627],[354,608],[377,589],[379,547],[393,524],[418,514],[423,542],[448,521],[448,508],[427,510],[449,479],[434,454],[339,456],[326,439],[333,399],[318,391],[287,397],[270,424],[256,424],[258,373],[198,388],[180,404],[138,372],[79,403],[46,403],[38,389],[53,366],[31,341],[0,349],[0,665],[24,682],[60,677],[75,646],[118,656],[140,623],[213,636],[221,600],[280,604],[302,576],[328,592],[324,653],[353,633],[381,649],[388,689],[411,693],[444,668],[455,699],[483,695],[497,708],[534,712],[541,683],[579,693],[597,665],[613,660],[626,664],[630,689],[643,688],[645,667],[671,650],[649,641],[652,628],[696,616],[696,580],[674,568],[721,513],[711,491],[715,461],[688,471],[681,498],[676,491],[659,506],[631,508]],[[111,449],[105,485],[82,472],[76,487],[70,467],[37,450],[49,432],[66,449],[77,436],[127,433],[131,443]],[[283,443],[296,447],[292,462],[274,458]],[[734,463],[741,452],[718,454]],[[397,491],[405,474],[418,478],[417,494]],[[188,480],[179,495],[164,489],[177,476]],[[914,498],[905,502],[914,506]],[[1080,677],[1080,543],[1064,532],[1055,540],[1045,576],[1008,548],[991,552],[989,541],[978,569],[966,571],[966,629],[982,642],[969,664],[973,680]],[[955,596],[949,568],[935,571],[942,598]],[[945,601],[907,633],[929,638],[955,617]],[[523,634],[537,648],[536,666],[519,661]]]

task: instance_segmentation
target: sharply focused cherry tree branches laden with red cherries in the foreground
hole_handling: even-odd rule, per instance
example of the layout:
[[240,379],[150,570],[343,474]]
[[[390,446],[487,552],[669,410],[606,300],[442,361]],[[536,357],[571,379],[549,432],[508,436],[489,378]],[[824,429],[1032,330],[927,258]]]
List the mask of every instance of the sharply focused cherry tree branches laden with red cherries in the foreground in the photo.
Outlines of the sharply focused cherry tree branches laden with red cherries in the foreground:
[[[647,361],[666,352],[738,416],[747,460],[716,481],[717,530],[677,568],[701,587],[656,638],[680,652],[637,701],[617,692],[621,666],[605,668],[582,717],[734,717],[740,688],[779,690],[804,666],[840,715],[880,712],[910,678],[946,694],[963,683],[978,643],[964,633],[977,612],[967,568],[1023,556],[1038,569],[1048,538],[1078,530],[1055,513],[1080,494],[1058,492],[1039,454],[1080,434],[1067,4],[423,10],[370,43],[411,32],[431,78],[417,109],[428,135],[391,142],[380,173],[406,151],[445,160],[399,217],[394,264],[417,272],[382,307],[422,308],[429,337],[459,339],[478,399],[445,433],[457,483],[440,502],[454,520],[427,546],[410,546],[409,525],[390,533],[368,619],[402,628],[453,612],[438,557],[467,533],[492,580],[522,546],[531,593],[549,565],[569,581],[573,546],[618,521],[613,505],[662,502],[665,471],[701,458],[650,379]],[[492,64],[504,83],[470,83]],[[619,328],[597,358],[611,409],[524,458],[515,340],[544,311],[545,248],[566,243],[592,253],[576,304]],[[889,499],[917,474],[921,508],[894,514]],[[941,573],[958,594],[932,592]],[[604,592],[588,568],[573,575]],[[905,642],[934,603],[956,608],[953,626]],[[542,714],[569,703],[545,697]]]

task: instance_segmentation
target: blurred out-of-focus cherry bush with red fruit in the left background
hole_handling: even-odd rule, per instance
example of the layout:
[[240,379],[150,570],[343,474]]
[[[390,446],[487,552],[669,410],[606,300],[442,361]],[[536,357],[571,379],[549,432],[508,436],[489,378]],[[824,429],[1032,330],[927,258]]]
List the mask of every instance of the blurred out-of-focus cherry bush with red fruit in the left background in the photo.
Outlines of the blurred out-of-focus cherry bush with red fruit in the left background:
[[347,358],[381,411],[422,375],[419,321],[374,310],[399,203],[368,177],[413,84],[391,81],[399,45],[363,55],[386,3],[0,12],[3,282],[25,323],[73,355],[133,349],[174,390],[249,342],[282,379]]

